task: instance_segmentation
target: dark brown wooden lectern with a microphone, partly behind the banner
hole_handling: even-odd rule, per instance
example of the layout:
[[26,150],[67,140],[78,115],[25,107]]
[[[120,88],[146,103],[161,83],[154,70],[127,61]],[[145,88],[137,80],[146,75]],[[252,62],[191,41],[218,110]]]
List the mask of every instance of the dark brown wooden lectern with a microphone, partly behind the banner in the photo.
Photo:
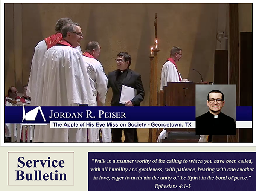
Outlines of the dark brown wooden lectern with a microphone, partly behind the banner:
[[[160,100],[163,106],[195,106],[195,85],[208,82],[167,82]],[[200,136],[195,135],[195,129],[166,128],[166,139],[161,142],[198,142]]]

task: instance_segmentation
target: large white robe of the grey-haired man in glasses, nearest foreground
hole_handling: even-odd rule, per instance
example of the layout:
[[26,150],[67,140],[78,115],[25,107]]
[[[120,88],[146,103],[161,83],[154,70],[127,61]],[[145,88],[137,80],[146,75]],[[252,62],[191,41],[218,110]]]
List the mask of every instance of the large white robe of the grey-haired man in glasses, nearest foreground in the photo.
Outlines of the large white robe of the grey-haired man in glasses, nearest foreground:
[[[37,103],[41,106],[95,104],[87,69],[79,50],[70,44],[53,46],[47,50],[38,81],[35,97]],[[50,128],[49,124],[35,126],[34,142],[87,142],[87,129],[55,129]]]

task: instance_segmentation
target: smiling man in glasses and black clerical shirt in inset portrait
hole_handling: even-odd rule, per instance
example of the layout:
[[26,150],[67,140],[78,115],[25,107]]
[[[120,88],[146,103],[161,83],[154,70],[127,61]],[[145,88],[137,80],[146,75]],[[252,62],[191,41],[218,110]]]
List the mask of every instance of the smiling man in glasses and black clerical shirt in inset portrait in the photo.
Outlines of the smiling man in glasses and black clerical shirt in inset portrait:
[[207,96],[209,111],[196,118],[196,135],[236,135],[235,120],[221,112],[225,105],[224,94],[212,90]]

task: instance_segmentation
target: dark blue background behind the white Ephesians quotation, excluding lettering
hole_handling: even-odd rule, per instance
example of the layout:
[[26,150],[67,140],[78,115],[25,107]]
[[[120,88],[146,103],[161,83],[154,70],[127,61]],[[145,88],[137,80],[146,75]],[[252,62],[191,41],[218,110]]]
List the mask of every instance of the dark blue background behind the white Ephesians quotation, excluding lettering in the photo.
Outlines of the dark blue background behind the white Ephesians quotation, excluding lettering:
[[[168,149],[168,148],[166,148]],[[105,159],[105,163],[96,163],[94,159]],[[151,160],[147,163],[135,163],[135,160]],[[156,160],[156,163],[152,163]],[[165,163],[159,163],[159,159],[165,160]],[[167,163],[167,160],[182,160],[179,163]],[[203,163],[190,163],[189,160],[202,159]],[[216,160],[224,160],[224,163],[214,163]],[[227,163],[227,159],[236,160],[237,163]],[[238,163],[239,160],[251,159],[251,163]],[[234,152],[89,152],[88,154],[88,188],[89,191],[157,191],[157,190],[189,190],[189,191],[254,191],[256,190],[256,153],[234,153]],[[111,163],[108,163],[111,160]],[[113,160],[134,160],[133,163],[113,163]],[[184,163],[183,160],[187,160]],[[212,160],[212,163],[204,164],[204,160]],[[102,172],[102,169],[107,167],[108,171]],[[109,171],[109,168],[128,168],[125,173],[123,171]],[[166,168],[195,168],[196,172],[186,171],[165,171]],[[198,172],[199,168],[214,168],[215,171]],[[244,172],[230,172],[228,168],[254,168],[253,171]],[[91,169],[100,169],[100,171],[91,171]],[[137,168],[137,171],[130,172],[130,168]],[[163,171],[146,171],[140,172],[139,169],[162,169]],[[226,171],[216,171],[216,168],[225,168]],[[110,177],[110,180],[99,180],[99,177]],[[150,180],[111,180],[111,177],[151,177]],[[152,177],[159,177],[158,180],[152,180]],[[160,180],[160,177],[178,177],[177,180]],[[200,180],[180,180],[183,177],[200,177]],[[207,177],[214,177],[213,180],[208,180]],[[227,180],[216,180],[215,177],[225,177]],[[247,177],[247,180],[228,180],[228,177]],[[97,180],[94,177],[98,177]],[[206,177],[202,180],[202,177]],[[177,185],[177,188],[160,188],[157,189],[156,185]],[[182,188],[179,188],[182,184]],[[184,185],[186,186],[184,187]],[[190,188],[189,188],[190,187]]]

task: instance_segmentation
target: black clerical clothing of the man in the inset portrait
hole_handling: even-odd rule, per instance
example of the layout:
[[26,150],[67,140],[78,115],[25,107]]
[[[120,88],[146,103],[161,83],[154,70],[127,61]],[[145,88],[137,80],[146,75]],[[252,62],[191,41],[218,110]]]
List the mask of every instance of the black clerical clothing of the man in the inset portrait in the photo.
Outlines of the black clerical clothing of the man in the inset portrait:
[[196,135],[236,135],[235,120],[219,113],[218,118],[209,111],[195,118],[195,134]]

